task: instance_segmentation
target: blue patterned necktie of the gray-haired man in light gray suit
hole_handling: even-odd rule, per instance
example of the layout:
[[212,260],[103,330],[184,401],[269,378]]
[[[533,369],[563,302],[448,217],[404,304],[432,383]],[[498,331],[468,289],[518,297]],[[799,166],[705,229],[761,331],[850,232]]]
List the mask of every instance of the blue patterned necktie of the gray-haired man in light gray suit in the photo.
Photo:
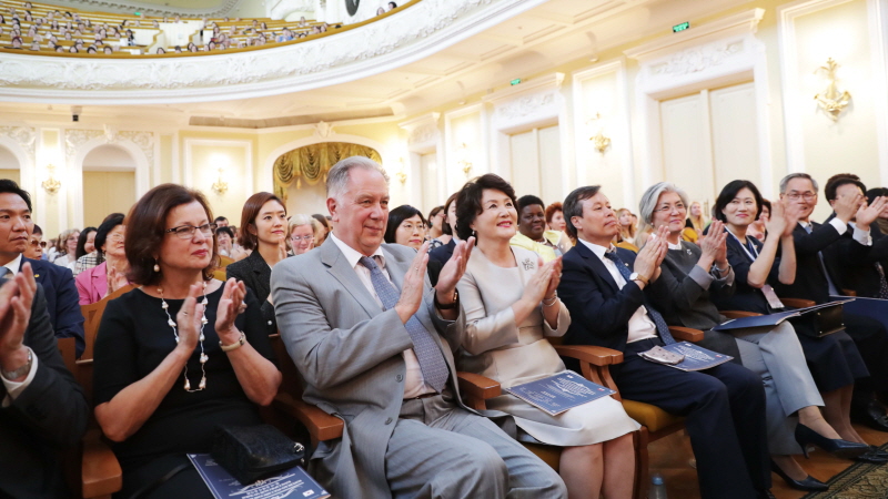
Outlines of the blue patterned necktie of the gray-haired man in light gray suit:
[[[370,282],[373,284],[373,289],[376,291],[383,307],[386,310],[393,308],[397,304],[401,293],[385,278],[373,258],[362,256],[360,263],[370,269]],[[420,370],[423,373],[425,383],[440,393],[444,389],[447,376],[450,376],[444,355],[438,349],[432,335],[428,334],[428,330],[415,315],[407,320],[404,327],[406,327],[410,338],[413,340],[413,352],[416,353],[416,359],[420,361]]]

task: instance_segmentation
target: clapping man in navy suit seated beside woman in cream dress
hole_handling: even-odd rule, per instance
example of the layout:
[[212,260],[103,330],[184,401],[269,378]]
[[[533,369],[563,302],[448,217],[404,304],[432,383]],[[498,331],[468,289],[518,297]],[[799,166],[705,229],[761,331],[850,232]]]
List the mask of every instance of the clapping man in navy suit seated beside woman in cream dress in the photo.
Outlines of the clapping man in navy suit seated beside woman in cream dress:
[[598,186],[575,190],[563,208],[567,232],[577,238],[563,257],[558,286],[573,318],[565,343],[623,352],[624,361],[610,366],[620,395],[687,418],[704,499],[773,497],[759,377],[733,363],[686,373],[637,355],[672,340],[650,305],[668,293],[657,282],[665,234],[638,255],[615,248],[619,225]]

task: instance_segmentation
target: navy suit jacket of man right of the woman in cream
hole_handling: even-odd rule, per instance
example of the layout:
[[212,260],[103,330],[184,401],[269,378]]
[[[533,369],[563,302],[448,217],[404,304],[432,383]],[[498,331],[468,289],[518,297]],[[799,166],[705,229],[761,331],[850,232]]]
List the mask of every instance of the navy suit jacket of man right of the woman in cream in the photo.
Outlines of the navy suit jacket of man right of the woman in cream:
[[[636,254],[618,247],[617,256],[633,268]],[[668,289],[660,279],[644,292],[634,282],[623,289],[610,276],[607,267],[585,244],[578,242],[563,257],[562,282],[558,296],[571,313],[571,327],[565,334],[567,345],[597,345],[615,350],[626,349],[629,318],[639,306],[649,306],[646,295],[668,299]]]

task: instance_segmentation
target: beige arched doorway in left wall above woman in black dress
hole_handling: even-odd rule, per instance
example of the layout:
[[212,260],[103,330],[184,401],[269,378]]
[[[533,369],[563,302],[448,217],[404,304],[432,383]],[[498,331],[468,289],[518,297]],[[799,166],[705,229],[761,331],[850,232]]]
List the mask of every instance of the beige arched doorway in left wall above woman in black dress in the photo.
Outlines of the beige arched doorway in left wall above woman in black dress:
[[127,213],[135,204],[135,159],[125,149],[108,144],[83,159],[83,223],[99,226],[111,213]]

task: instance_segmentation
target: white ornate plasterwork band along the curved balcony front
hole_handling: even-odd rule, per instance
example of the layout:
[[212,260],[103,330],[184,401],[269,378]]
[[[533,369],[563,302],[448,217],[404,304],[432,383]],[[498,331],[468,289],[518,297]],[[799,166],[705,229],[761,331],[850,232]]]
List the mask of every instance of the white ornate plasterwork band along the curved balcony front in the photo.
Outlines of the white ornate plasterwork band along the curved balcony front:
[[193,58],[91,60],[2,53],[0,98],[170,103],[310,90],[390,71],[544,2],[424,0],[398,16],[317,40]]

